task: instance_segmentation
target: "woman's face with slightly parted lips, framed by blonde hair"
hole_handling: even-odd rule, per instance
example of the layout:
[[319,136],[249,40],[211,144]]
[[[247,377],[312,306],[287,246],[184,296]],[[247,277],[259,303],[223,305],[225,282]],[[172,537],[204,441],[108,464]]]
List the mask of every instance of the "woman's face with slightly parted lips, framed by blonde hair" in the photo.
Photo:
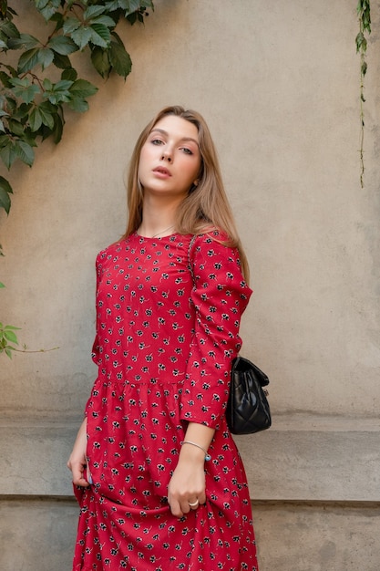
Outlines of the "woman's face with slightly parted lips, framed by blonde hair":
[[150,131],[139,156],[144,194],[184,198],[200,172],[198,129],[186,119],[167,115]]

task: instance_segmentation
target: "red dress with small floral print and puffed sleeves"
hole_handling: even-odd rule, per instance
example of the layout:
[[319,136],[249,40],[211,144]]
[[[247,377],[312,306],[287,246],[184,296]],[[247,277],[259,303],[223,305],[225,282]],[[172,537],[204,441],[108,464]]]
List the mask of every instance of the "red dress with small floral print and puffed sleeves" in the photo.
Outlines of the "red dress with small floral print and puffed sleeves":
[[[198,236],[189,256],[190,240],[131,234],[98,254],[98,379],[86,407],[93,484],[76,488],[75,571],[258,568],[247,480],[224,417],[252,290],[217,232]],[[189,421],[216,431],[207,502],[178,518],[167,492]]]

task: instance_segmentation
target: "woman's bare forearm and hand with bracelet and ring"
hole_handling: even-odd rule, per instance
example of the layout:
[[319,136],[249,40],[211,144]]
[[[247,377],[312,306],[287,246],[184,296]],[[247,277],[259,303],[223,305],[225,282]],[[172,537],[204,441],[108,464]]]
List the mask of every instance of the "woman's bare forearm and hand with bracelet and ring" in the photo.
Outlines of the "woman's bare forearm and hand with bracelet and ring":
[[[190,422],[188,425],[180,449],[179,462],[168,488],[170,510],[177,517],[189,514],[190,504],[195,504],[197,500],[200,504],[206,502],[204,451],[209,449],[214,432],[214,429],[197,422]],[[198,504],[194,507],[196,509]]]

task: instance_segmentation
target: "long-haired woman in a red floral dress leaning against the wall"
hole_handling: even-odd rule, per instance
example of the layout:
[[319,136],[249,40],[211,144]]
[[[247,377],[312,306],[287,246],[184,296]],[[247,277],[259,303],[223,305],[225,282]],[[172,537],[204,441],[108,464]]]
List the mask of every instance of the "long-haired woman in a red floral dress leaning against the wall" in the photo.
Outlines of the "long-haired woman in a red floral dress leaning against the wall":
[[246,476],[225,420],[252,290],[202,117],[142,131],[128,228],[97,258],[98,379],[67,462],[75,571],[257,570]]

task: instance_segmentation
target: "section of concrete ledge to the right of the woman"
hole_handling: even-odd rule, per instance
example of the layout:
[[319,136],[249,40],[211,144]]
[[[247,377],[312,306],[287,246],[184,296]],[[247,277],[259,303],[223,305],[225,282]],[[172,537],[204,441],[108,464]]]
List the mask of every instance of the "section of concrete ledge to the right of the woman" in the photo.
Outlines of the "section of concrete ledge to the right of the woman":
[[380,500],[378,419],[283,416],[235,440],[252,500]]

